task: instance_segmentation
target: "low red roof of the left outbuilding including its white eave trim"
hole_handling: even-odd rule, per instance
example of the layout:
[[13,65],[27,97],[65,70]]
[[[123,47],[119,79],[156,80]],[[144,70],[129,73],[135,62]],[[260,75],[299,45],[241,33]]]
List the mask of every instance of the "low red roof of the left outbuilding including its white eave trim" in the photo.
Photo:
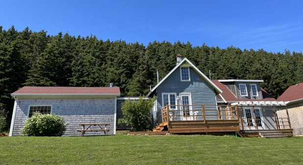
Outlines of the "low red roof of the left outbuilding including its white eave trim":
[[24,86],[11,96],[120,96],[119,87]]

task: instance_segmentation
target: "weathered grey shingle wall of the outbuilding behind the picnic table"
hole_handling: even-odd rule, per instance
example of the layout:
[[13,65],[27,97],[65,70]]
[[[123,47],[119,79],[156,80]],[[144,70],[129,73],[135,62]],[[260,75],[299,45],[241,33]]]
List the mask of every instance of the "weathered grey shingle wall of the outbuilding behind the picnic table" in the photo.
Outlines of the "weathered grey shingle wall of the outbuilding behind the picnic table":
[[[51,105],[55,113],[69,122],[64,136],[81,136],[79,123],[109,123],[106,135],[114,134],[116,98],[18,98],[13,136],[20,136],[27,119],[29,105]],[[86,132],[85,135],[104,135],[103,132]]]

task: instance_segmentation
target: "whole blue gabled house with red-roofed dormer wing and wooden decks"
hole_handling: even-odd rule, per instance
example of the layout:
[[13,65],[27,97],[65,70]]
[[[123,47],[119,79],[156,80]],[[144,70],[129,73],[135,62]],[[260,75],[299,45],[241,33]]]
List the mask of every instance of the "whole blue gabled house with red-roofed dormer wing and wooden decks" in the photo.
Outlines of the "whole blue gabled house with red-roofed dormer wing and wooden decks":
[[279,118],[272,108],[285,103],[267,97],[268,93],[260,88],[259,82],[263,81],[211,81],[193,63],[178,55],[176,67],[147,94],[147,97],[157,97],[152,108],[153,131],[233,132],[242,137],[292,135],[290,124],[279,127]]

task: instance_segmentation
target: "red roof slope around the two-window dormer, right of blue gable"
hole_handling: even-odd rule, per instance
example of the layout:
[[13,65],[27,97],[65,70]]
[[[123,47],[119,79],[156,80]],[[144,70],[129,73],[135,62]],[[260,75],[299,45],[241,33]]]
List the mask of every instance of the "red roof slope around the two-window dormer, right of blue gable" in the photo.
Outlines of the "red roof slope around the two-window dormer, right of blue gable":
[[[245,80],[242,80],[245,81]],[[259,80],[258,80],[259,81]],[[261,88],[263,99],[237,99],[235,95],[225,86],[221,80],[212,80],[221,90],[221,96],[226,102],[247,102],[247,101],[276,101],[270,94],[268,94],[263,88]],[[247,80],[246,82],[251,82]]]

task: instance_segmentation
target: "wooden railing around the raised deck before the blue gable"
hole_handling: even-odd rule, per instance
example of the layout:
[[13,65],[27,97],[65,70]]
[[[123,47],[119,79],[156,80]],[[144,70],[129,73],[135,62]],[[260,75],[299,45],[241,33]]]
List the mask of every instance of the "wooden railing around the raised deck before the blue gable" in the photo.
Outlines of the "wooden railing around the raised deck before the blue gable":
[[239,120],[237,105],[166,105],[162,123],[169,121]]

